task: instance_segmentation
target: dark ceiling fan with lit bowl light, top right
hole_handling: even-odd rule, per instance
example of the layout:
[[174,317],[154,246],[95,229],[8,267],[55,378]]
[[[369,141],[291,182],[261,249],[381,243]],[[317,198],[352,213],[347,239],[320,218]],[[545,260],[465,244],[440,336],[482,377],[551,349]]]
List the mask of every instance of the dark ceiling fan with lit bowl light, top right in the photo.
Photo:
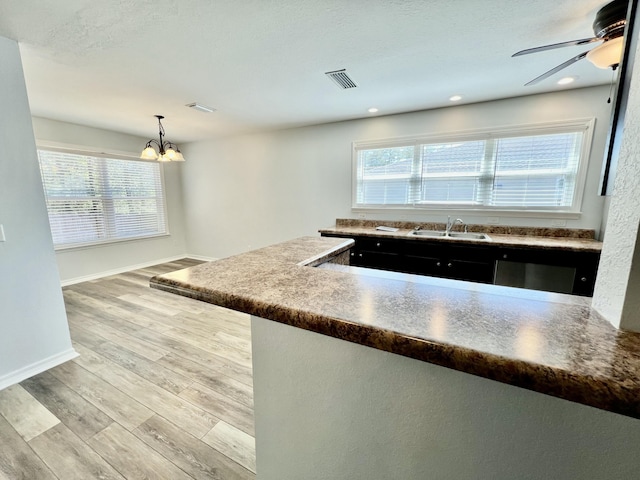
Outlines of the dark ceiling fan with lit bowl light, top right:
[[[594,37],[582,38],[580,40],[570,40],[568,42],[553,43],[551,45],[543,45],[542,47],[529,48],[521,50],[512,55],[518,57],[520,55],[528,55],[530,53],[543,52],[545,50],[553,50],[556,48],[570,47],[574,45],[586,45],[593,42],[603,42],[601,45],[582,52],[564,63],[561,63],[548,72],[543,73],[539,77],[534,78],[527,85],[535,85],[545,78],[558,73],[560,70],[576,63],[578,60],[587,58],[591,63],[599,68],[612,68],[615,70],[620,63],[620,56],[623,47],[624,28],[627,24],[627,9],[630,0],[614,0],[607,3],[596,13],[596,19],[593,22]],[[631,0],[634,1],[634,0]]]

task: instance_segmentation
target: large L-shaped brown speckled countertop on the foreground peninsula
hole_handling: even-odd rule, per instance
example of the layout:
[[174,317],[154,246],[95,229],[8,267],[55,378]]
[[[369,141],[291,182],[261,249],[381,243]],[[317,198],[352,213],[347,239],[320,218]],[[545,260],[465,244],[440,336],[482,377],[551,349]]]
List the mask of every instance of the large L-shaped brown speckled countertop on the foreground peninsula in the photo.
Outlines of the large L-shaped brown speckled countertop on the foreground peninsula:
[[590,299],[313,268],[353,240],[303,237],[156,276],[151,286],[640,418],[640,334]]

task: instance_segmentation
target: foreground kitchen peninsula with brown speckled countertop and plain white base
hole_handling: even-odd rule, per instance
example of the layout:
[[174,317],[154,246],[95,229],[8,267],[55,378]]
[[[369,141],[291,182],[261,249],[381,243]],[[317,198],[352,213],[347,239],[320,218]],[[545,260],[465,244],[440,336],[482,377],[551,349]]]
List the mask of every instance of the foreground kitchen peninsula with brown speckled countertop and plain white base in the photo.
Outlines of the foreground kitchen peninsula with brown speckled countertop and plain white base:
[[584,297],[313,268],[352,246],[303,237],[151,281],[252,315],[259,479],[637,473],[640,335]]

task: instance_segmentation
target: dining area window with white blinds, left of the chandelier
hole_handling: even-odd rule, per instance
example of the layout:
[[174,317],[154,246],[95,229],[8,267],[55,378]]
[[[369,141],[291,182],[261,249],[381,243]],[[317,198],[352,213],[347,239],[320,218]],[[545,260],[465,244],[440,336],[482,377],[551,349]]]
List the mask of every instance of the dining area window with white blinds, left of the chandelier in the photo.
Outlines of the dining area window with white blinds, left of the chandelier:
[[38,150],[56,248],[167,233],[158,163]]

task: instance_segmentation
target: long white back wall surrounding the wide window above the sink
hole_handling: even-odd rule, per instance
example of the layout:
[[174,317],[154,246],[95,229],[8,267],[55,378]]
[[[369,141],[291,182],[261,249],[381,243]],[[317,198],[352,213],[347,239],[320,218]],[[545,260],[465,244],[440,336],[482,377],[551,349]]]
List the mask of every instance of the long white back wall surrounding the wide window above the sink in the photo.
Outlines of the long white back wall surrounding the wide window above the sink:
[[[597,194],[609,126],[608,87],[461,105],[305,128],[196,142],[186,146],[183,180],[190,253],[224,257],[315,234],[351,211],[353,141],[446,133],[496,126],[595,117],[596,127],[581,218],[570,228],[599,230],[604,200]],[[452,212],[467,223],[487,217]],[[372,219],[443,221],[437,214],[370,213]],[[551,226],[547,218],[501,216],[504,225]]]

